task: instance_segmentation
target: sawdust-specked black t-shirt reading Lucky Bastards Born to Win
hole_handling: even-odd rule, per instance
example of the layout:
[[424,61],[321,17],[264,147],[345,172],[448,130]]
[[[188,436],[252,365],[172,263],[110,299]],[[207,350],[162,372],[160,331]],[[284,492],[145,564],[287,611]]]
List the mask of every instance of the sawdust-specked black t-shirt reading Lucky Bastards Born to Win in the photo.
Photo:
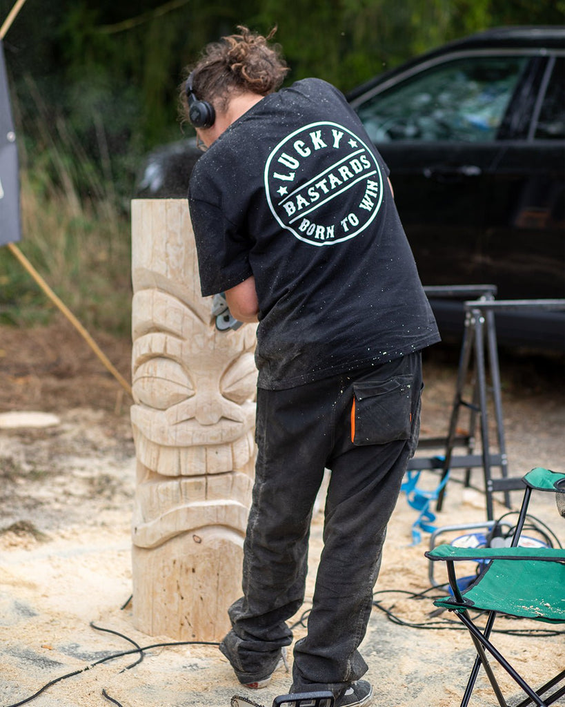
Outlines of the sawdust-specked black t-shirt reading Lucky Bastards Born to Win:
[[201,291],[255,277],[259,387],[439,341],[387,176],[343,95],[316,78],[267,95],[196,163]]

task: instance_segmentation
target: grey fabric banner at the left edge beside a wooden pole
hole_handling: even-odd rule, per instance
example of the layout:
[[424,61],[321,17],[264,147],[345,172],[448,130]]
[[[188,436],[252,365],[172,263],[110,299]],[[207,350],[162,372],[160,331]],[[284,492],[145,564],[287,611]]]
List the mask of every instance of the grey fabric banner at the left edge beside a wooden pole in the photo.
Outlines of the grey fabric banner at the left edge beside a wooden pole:
[[20,240],[18,147],[10,108],[4,47],[0,41],[0,245],[16,240]]

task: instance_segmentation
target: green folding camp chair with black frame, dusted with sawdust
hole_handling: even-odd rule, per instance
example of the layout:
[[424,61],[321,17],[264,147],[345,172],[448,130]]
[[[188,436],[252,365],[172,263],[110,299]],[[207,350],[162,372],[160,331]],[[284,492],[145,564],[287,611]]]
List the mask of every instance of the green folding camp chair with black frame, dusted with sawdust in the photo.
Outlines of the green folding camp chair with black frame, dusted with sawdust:
[[[518,674],[509,661],[489,640],[496,613],[511,617],[535,619],[547,624],[565,624],[565,549],[543,547],[518,547],[520,535],[528,512],[528,503],[533,490],[556,493],[557,508],[565,517],[565,474],[537,467],[523,477],[525,492],[511,547],[468,549],[439,545],[426,556],[431,560],[447,563],[449,585],[453,597],[444,597],[434,604],[455,612],[456,617],[470,632],[477,658],[472,668],[461,707],[469,703],[480,666],[484,667],[501,707],[509,707],[487,658],[488,651],[513,680],[521,686],[528,697],[515,707],[525,707],[534,703],[546,707],[565,695],[565,670],[561,671],[545,685],[533,689]],[[466,590],[458,588],[454,564],[456,561],[487,561],[485,568]],[[481,629],[475,625],[469,610],[487,612],[487,624]],[[486,649],[486,650],[485,650]],[[540,660],[537,656],[536,660]],[[545,695],[549,690],[557,690]],[[563,704],[563,702],[560,702]]]

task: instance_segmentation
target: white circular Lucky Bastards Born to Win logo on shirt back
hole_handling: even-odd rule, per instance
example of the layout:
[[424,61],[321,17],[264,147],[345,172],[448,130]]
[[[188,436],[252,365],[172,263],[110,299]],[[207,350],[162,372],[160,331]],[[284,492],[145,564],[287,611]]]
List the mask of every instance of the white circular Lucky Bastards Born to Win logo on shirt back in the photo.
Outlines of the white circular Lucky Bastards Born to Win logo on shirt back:
[[312,245],[354,238],[381,208],[383,178],[374,153],[337,123],[296,130],[265,165],[268,205],[280,226]]

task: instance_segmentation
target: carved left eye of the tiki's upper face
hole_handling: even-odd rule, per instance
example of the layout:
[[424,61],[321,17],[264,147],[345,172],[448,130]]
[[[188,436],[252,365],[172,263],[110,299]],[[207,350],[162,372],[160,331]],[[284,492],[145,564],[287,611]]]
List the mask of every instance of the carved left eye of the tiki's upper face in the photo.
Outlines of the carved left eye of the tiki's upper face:
[[170,358],[150,358],[133,375],[133,394],[156,410],[166,410],[194,395],[186,370]]

